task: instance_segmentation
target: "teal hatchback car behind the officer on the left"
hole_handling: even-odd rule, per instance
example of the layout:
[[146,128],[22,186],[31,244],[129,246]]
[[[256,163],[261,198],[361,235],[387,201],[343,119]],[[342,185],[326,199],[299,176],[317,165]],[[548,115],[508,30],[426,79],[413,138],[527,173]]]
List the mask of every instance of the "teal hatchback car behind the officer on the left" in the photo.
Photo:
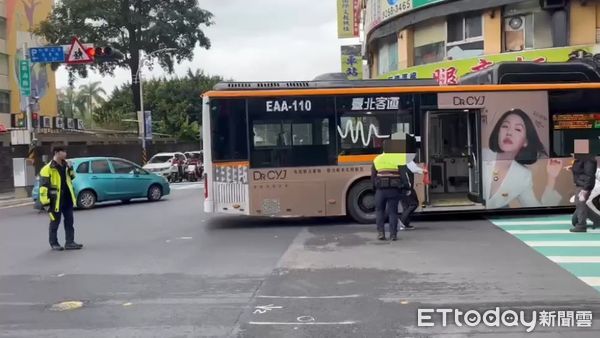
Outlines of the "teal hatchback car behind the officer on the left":
[[[73,188],[77,207],[81,209],[93,208],[97,202],[120,200],[128,203],[134,198],[158,201],[171,192],[169,182],[164,177],[122,158],[85,157],[68,161],[76,173]],[[39,179],[34,185],[32,197],[39,206]]]

